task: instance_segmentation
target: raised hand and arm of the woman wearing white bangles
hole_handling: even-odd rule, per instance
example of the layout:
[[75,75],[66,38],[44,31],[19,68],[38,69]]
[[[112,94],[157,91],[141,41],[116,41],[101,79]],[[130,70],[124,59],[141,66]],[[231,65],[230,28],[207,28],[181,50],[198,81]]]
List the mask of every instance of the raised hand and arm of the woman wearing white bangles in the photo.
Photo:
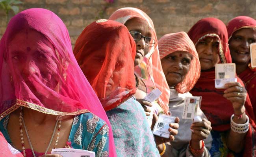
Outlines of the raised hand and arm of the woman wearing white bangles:
[[[244,106],[247,91],[239,82],[230,82],[225,86],[227,89],[223,96],[232,102],[235,114],[233,121],[237,124],[244,124],[247,121]],[[231,129],[227,137],[228,148],[236,153],[241,152],[245,145],[245,135],[246,133],[236,133]]]

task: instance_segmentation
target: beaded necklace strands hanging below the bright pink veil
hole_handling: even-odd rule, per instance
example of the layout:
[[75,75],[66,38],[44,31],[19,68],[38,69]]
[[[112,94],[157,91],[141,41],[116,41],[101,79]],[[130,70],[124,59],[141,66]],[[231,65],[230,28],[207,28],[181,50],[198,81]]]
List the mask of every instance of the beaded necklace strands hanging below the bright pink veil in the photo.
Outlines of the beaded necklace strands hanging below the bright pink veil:
[[[32,150],[32,153],[33,153],[33,156],[35,156],[35,152],[33,150],[33,146],[31,144],[31,141],[30,141],[30,137],[28,135],[28,131],[27,131],[27,128],[26,128],[26,125],[25,125],[25,121],[23,119],[23,113],[22,113],[22,107],[20,107],[20,117],[19,117],[19,124],[20,124],[20,139],[21,139],[21,144],[22,144],[22,152],[23,152],[23,156],[26,157],[26,150],[25,150],[25,146],[24,146],[24,137],[23,137],[23,131],[22,131],[22,123],[24,125],[24,129],[25,129],[25,132],[26,132],[26,135],[27,135],[27,138],[28,138],[28,143],[30,145],[30,148]],[[61,127],[61,116],[57,117],[57,120],[56,120],[56,124],[55,124],[55,127],[54,127],[54,131],[52,133],[52,137],[51,137],[51,140],[46,148],[46,151],[45,151],[45,154],[48,152],[48,149],[50,148],[50,145],[52,143],[52,139],[54,137],[54,134],[56,132],[56,128],[57,128],[57,124],[59,122],[59,125],[58,125],[58,133],[57,133],[57,137],[56,137],[56,141],[55,141],[55,145],[54,145],[54,148],[57,147],[58,145],[58,141],[59,141],[59,131],[60,131],[60,127]]]

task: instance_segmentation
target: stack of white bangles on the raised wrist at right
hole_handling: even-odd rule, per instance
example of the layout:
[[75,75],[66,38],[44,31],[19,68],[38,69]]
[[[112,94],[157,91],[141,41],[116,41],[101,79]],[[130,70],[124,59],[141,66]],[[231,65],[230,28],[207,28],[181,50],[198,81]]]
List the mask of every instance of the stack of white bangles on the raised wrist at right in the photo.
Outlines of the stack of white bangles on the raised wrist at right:
[[234,114],[230,117],[230,127],[236,133],[246,133],[249,130],[249,117],[245,115],[246,122],[244,124],[237,124],[233,120]]

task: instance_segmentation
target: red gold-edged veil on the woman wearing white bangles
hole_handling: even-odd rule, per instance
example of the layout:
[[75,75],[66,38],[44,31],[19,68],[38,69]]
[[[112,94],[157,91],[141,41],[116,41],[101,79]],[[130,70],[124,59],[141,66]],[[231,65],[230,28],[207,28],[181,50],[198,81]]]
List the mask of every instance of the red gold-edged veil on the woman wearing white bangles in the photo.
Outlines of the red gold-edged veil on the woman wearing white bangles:
[[[228,48],[228,33],[225,24],[217,18],[203,18],[199,20],[187,33],[196,45],[206,37],[217,37],[219,39],[219,57],[221,63],[231,63],[231,56]],[[224,89],[216,89],[214,84],[215,69],[201,71],[201,76],[194,88],[190,91],[192,95],[201,95],[201,109],[211,121],[213,130],[230,130],[230,117],[234,113],[232,103],[223,97]],[[237,77],[237,82],[243,85]],[[256,152],[254,114],[252,104],[247,95],[245,102],[246,114],[250,118],[249,131],[245,142],[245,157],[253,156]]]

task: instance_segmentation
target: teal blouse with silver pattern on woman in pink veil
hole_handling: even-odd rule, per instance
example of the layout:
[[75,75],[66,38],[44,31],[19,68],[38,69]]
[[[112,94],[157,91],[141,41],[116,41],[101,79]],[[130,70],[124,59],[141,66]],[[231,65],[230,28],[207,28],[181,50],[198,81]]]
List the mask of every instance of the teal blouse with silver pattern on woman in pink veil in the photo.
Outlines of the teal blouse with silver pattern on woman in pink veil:
[[[0,121],[0,131],[6,141],[12,145],[7,132],[9,115]],[[74,117],[69,135],[69,142],[74,149],[95,152],[96,157],[108,157],[109,128],[102,119],[93,113],[83,113]],[[21,151],[20,151],[21,152]],[[39,155],[39,153],[36,153]]]

